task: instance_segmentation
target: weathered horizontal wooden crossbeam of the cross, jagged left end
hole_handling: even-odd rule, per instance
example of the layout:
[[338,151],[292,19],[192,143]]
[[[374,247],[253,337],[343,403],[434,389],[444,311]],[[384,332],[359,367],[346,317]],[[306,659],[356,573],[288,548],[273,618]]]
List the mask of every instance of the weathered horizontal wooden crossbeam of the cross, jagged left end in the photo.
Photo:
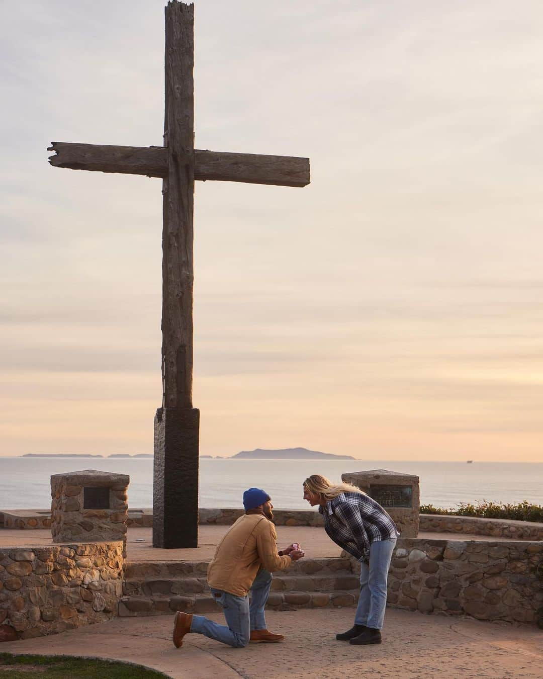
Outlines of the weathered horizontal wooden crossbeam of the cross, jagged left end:
[[[167,147],[54,141],[48,151],[55,151],[56,155],[51,155],[49,162],[58,168],[162,178],[168,175]],[[310,183],[310,159],[195,149],[194,179],[301,187]]]

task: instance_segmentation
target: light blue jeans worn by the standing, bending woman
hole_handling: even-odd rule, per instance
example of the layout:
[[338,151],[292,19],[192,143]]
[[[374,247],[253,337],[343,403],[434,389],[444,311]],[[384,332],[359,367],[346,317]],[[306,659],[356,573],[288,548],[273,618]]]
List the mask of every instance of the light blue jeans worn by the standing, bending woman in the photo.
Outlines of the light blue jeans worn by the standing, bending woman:
[[396,540],[376,540],[369,548],[369,566],[360,564],[360,599],[354,623],[382,629],[385,619],[386,581]]

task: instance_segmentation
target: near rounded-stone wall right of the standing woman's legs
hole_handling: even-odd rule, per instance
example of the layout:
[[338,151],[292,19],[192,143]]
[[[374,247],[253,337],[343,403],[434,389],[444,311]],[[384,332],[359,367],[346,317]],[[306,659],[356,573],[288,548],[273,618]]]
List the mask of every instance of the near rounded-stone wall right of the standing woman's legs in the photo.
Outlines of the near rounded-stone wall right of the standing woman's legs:
[[[543,624],[542,542],[398,538],[388,576],[394,608]],[[353,559],[353,569],[360,564]]]

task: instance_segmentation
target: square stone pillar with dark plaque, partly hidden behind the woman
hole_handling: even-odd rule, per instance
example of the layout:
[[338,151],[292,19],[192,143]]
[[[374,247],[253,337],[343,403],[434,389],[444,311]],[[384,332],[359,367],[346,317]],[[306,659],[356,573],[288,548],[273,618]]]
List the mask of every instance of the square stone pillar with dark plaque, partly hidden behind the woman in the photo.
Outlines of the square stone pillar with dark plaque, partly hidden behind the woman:
[[385,509],[402,538],[419,534],[419,477],[386,469],[342,474],[341,480],[363,490]]

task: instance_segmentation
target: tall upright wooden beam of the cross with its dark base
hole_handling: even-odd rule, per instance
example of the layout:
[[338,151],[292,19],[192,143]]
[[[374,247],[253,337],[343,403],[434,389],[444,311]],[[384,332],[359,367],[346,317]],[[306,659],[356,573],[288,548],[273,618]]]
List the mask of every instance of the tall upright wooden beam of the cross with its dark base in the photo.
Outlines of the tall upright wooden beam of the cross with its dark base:
[[153,547],[198,547],[200,413],[192,407],[194,7],[166,14],[163,180],[162,382],[155,416]]

